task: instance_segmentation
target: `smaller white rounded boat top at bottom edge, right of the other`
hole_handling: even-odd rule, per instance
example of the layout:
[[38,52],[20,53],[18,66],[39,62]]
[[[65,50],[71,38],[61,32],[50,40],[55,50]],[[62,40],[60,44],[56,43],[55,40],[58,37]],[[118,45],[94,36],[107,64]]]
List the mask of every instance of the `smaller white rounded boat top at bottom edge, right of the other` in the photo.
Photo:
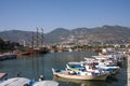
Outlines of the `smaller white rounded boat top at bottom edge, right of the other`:
[[58,86],[58,83],[54,81],[40,81],[36,82],[32,86]]

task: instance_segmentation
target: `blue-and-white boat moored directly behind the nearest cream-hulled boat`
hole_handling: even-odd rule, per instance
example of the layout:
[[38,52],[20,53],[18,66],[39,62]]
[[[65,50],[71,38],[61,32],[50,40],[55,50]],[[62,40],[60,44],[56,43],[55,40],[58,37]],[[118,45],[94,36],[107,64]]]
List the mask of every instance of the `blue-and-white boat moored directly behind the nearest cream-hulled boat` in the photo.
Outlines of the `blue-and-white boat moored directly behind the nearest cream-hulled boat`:
[[66,68],[73,71],[88,71],[88,72],[106,72],[109,75],[116,74],[119,71],[119,67],[117,66],[105,66],[105,64],[99,64],[94,62],[90,63],[81,63],[81,62],[68,62],[66,64]]

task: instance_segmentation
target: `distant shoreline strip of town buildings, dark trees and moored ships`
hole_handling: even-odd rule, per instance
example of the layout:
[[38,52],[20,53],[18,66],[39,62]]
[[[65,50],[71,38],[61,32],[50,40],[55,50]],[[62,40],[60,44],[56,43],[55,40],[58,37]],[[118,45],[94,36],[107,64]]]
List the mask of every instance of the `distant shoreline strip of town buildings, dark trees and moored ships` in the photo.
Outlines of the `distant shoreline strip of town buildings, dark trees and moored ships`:
[[92,42],[89,44],[84,43],[61,43],[61,44],[43,44],[43,45],[21,45],[17,42],[4,41],[0,39],[0,53],[16,53],[17,55],[29,55],[29,54],[44,54],[44,53],[56,53],[56,52],[87,52],[94,51],[101,52],[103,48],[118,49],[123,48],[130,51],[130,44],[106,44],[100,42]]

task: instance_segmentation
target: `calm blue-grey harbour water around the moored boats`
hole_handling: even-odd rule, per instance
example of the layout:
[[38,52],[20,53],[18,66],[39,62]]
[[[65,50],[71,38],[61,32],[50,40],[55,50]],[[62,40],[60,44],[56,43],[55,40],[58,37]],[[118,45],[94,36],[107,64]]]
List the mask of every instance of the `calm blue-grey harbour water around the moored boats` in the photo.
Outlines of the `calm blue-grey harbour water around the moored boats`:
[[[60,86],[126,86],[127,75],[126,68],[121,68],[120,72],[106,82],[74,81],[60,77],[53,77],[52,68],[64,69],[69,61],[80,61],[83,57],[90,57],[94,53],[53,53],[38,56],[21,57],[14,60],[0,61],[0,72],[8,72],[8,77],[13,77],[17,72],[21,76],[38,80],[40,74],[46,80],[53,80],[60,83]],[[122,64],[125,66],[125,64]]]

